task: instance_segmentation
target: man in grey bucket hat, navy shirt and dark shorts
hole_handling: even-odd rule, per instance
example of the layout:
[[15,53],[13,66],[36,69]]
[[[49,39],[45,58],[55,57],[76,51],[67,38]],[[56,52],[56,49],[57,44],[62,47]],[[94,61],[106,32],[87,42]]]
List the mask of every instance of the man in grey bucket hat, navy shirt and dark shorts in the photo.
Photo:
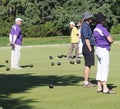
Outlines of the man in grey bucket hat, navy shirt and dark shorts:
[[83,13],[83,23],[81,27],[81,38],[83,42],[83,56],[85,60],[83,87],[95,87],[96,84],[89,82],[90,69],[94,65],[94,45],[95,40],[90,28],[93,15],[90,12]]

